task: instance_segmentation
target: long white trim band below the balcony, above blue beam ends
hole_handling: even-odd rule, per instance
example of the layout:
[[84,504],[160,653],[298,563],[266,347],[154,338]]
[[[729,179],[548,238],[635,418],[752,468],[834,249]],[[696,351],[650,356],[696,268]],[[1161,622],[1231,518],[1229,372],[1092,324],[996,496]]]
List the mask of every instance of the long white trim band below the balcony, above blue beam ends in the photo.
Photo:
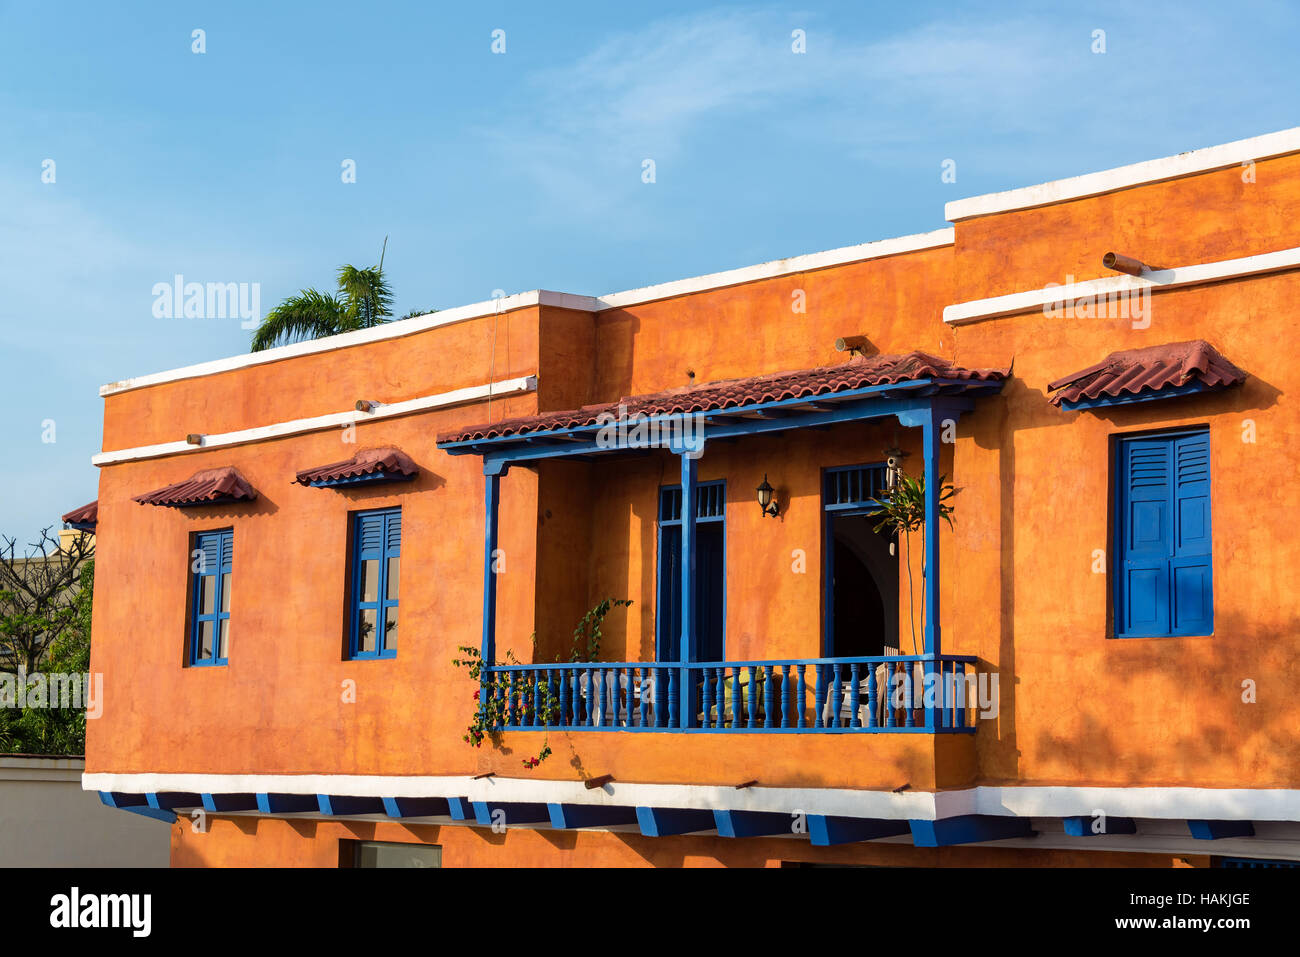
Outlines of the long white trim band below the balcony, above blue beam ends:
[[961,814],[1015,818],[1092,815],[1182,820],[1300,820],[1300,791],[1282,788],[976,787],[962,791],[854,791],[703,784],[624,784],[588,789],[582,781],[521,778],[380,776],[330,774],[109,774],[82,775],[86,791],[131,794],[283,793],[350,797],[464,797],[471,801],[686,807],[937,820]]

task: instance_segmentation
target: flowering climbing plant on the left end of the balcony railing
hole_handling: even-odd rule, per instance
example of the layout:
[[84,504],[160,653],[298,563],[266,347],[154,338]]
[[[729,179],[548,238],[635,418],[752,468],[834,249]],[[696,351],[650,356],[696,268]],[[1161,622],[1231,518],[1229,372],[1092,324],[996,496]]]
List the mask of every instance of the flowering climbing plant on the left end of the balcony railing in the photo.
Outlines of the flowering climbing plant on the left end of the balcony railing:
[[[594,662],[601,651],[601,638],[603,632],[601,625],[604,618],[614,609],[628,607],[629,598],[606,598],[594,609],[582,615],[577,628],[573,629],[573,649],[569,654],[571,662]],[[533,642],[537,642],[537,633],[533,633]],[[474,681],[474,715],[465,728],[462,740],[471,748],[482,748],[484,741],[495,737],[506,726],[507,709],[510,707],[510,677],[499,672],[494,674],[484,668],[482,655],[477,648],[460,645],[458,649],[460,658],[452,658],[451,663],[458,668],[465,668],[469,680]],[[506,661],[510,664],[520,664],[510,649],[506,649]],[[556,663],[559,655],[555,657]],[[549,727],[560,715],[560,700],[552,689],[551,681],[545,683],[517,683],[515,688],[517,707],[521,711],[521,723],[540,724]],[[550,737],[543,739],[541,750],[524,758],[524,767],[533,768],[551,755]]]

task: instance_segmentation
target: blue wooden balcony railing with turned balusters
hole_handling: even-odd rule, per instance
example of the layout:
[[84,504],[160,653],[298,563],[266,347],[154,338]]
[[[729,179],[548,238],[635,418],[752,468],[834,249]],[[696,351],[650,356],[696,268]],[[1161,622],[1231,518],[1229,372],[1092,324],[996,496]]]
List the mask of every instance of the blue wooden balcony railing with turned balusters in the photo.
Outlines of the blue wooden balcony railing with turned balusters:
[[968,733],[979,706],[975,658],[967,655],[485,671],[500,729]]

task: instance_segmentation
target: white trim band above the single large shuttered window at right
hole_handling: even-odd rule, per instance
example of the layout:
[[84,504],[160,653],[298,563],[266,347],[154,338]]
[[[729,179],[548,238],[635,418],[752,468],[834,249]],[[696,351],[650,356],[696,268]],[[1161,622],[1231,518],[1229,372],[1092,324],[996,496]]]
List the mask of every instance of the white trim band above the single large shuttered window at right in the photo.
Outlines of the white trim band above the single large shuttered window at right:
[[1143,273],[1141,276],[1102,276],[1097,280],[1086,280],[1084,282],[1074,282],[1067,286],[1052,283],[1044,289],[1031,289],[1024,293],[1010,293],[989,299],[972,299],[966,303],[945,306],[944,321],[949,325],[963,325],[984,319],[998,319],[1000,316],[1013,316],[1018,312],[1031,312],[1044,307],[1060,306],[1074,299],[1096,298],[1097,300],[1104,300],[1106,296],[1124,295],[1141,290],[1164,293],[1183,286],[1218,282],[1221,280],[1240,280],[1248,276],[1295,269],[1296,267],[1300,267],[1300,246],[1290,250],[1278,250],[1277,252],[1264,252],[1257,256],[1223,259],[1218,263],[1199,263],[1196,265],[1178,267],[1176,269],[1160,269],[1157,272]]

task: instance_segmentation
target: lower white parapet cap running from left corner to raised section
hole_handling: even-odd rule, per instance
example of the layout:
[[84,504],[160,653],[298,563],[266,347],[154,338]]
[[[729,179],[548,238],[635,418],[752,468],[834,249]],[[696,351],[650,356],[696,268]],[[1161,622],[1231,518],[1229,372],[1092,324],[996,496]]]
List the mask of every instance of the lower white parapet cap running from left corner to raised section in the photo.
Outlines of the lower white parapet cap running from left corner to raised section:
[[464,322],[471,319],[481,319],[484,316],[511,312],[514,309],[524,309],[533,306],[549,306],[562,309],[575,309],[578,312],[621,309],[628,306],[655,302],[658,299],[690,295],[692,293],[703,293],[711,289],[723,289],[725,286],[738,286],[745,282],[755,282],[758,280],[771,280],[793,273],[805,273],[814,269],[826,269],[833,265],[845,265],[848,263],[859,263],[868,259],[894,256],[901,252],[916,252],[920,250],[952,244],[953,229],[949,226],[945,229],[936,229],[931,233],[918,233],[915,235],[904,235],[893,239],[878,239],[870,243],[827,250],[826,252],[810,252],[805,256],[774,259],[770,263],[760,263],[759,265],[748,265],[741,269],[729,269],[727,272],[697,276],[689,280],[675,280],[672,282],[662,282],[655,286],[642,286],[641,289],[632,289],[625,293],[611,293],[604,296],[571,295],[568,293],[552,293],[545,289],[533,290],[532,293],[519,293],[502,299],[488,299],[481,303],[458,306],[451,309],[430,312],[424,316],[413,316],[412,319],[385,322],[369,329],[359,329],[356,332],[342,333],[339,335],[328,335],[321,339],[294,342],[287,346],[277,346],[276,348],[268,348],[261,352],[248,352],[247,355],[230,356],[229,359],[213,359],[211,361],[198,363],[196,365],[185,365],[178,369],[170,369],[168,372],[155,372],[148,376],[124,378],[118,382],[109,382],[108,385],[100,386],[99,394],[105,397],[114,395],[117,393],[125,393],[131,389],[140,389],[148,385],[159,385],[161,382],[174,382],[182,378],[212,376],[218,372],[230,372],[233,369],[242,369],[250,365],[261,365],[264,363],[274,363],[282,359],[294,359],[302,355],[333,352],[334,350],[347,348],[350,346],[363,346],[368,342],[380,342],[382,339],[395,339],[403,335],[415,335],[416,333],[428,332],[429,329],[438,329],[445,325]]

